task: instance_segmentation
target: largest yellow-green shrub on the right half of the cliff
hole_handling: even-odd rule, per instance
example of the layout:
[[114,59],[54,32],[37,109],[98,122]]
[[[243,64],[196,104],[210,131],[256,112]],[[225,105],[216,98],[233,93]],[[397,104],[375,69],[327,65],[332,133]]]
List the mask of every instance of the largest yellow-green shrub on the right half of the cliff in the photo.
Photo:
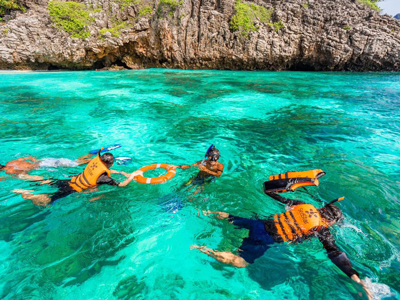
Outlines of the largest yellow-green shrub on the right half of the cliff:
[[258,29],[258,26],[255,26],[255,21],[257,20],[267,23],[268,26],[271,26],[275,31],[284,27],[280,20],[274,23],[270,21],[273,8],[267,9],[253,3],[247,4],[241,0],[236,0],[234,8],[236,12],[230,19],[230,28],[234,31],[239,31],[242,37],[248,37],[249,31]]

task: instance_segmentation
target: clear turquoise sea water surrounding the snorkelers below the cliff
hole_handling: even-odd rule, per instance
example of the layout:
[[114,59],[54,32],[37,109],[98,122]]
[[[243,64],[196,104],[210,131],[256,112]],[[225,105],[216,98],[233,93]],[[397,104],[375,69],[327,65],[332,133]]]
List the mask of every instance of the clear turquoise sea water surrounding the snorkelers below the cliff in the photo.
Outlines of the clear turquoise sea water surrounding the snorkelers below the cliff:
[[[339,203],[344,223],[333,230],[337,245],[361,278],[387,285],[389,298],[398,298],[399,79],[399,73],[0,72],[2,164],[23,155],[74,159],[119,143],[113,154],[133,160],[114,168],[133,171],[155,162],[193,163],[214,143],[225,165],[198,195],[182,186],[195,170],[178,169],[164,184],[103,185],[48,209],[11,190],[51,187],[0,181],[0,298],[359,299],[358,286],[317,240],[274,245],[242,269],[189,249],[234,250],[247,233],[201,210],[281,212],[262,182],[312,168],[326,175],[308,191],[325,201],[346,197]],[[67,178],[81,169],[31,174]],[[288,196],[321,205],[305,193]]]

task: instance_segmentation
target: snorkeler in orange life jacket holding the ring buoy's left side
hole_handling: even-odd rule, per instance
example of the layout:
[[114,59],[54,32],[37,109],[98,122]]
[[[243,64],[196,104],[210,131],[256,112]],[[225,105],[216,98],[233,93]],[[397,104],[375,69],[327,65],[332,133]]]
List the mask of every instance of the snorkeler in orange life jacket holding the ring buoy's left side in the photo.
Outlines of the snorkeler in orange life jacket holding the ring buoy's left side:
[[[101,184],[126,186],[135,176],[142,173],[141,171],[134,171],[129,174],[123,171],[111,170],[110,167],[114,163],[114,156],[109,152],[100,156],[100,150],[98,155],[89,161],[80,174],[73,176],[70,180],[55,179],[48,182],[48,185],[58,188],[52,194],[32,194],[33,190],[26,189],[14,189],[13,192],[20,193],[22,198],[30,199],[37,206],[45,206],[75,191],[83,191]],[[127,178],[123,182],[111,178],[111,174],[118,173]]]

